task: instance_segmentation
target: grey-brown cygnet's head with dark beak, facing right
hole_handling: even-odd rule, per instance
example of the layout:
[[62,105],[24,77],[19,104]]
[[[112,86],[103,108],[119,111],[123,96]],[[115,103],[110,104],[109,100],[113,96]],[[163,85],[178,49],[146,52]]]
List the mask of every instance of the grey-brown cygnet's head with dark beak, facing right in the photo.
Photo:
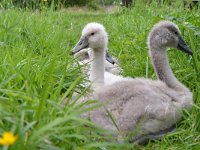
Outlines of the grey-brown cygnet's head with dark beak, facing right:
[[178,26],[170,21],[160,21],[154,25],[148,36],[148,46],[151,50],[173,47],[192,55],[191,49],[181,37]]

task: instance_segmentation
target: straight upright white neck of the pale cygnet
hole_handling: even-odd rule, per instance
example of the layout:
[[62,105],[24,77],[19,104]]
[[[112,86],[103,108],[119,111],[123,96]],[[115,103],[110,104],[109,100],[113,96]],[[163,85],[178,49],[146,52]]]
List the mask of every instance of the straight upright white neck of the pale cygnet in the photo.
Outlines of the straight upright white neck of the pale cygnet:
[[92,62],[90,70],[90,81],[93,86],[101,86],[104,84],[104,70],[105,70],[105,50],[96,49],[92,51]]

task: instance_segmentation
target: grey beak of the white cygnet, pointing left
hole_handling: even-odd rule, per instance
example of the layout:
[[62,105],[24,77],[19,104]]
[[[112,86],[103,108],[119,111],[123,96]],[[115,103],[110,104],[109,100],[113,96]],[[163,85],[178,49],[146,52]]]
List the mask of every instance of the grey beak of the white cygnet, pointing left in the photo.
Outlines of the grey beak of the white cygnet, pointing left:
[[89,46],[88,38],[86,36],[81,37],[76,46],[73,48],[72,55],[78,53],[84,48],[88,48],[88,46]]

